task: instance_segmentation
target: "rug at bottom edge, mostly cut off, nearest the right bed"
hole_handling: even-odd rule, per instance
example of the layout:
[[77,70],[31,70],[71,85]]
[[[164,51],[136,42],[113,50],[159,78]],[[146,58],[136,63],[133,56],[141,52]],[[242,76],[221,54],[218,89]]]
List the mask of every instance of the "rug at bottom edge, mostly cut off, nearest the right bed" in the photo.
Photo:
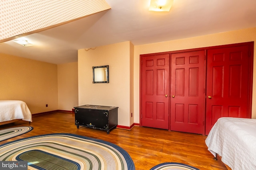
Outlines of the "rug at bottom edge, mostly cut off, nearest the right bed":
[[158,164],[151,168],[150,170],[199,170],[190,165],[176,163],[176,162],[166,162],[162,164]]

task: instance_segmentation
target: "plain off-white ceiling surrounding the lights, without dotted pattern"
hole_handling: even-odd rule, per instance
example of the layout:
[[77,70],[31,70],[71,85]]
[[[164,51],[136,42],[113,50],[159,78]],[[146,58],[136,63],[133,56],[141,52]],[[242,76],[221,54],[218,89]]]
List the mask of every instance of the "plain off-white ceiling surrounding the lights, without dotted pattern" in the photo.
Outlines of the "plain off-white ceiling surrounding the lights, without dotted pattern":
[[131,41],[134,45],[256,27],[256,0],[174,0],[170,12],[148,11],[149,0],[106,0],[112,9],[27,35],[0,53],[53,64],[77,61],[78,49]]

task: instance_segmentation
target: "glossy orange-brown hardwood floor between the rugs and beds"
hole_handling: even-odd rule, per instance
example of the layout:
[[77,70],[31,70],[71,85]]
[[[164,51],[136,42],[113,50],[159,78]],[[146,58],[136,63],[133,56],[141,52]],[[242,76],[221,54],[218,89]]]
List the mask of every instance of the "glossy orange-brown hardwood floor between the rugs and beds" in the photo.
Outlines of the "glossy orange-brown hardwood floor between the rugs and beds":
[[[0,142],[0,145],[48,133],[73,133],[86,137],[102,139],[122,147],[134,161],[136,170],[149,170],[153,166],[164,162],[179,162],[189,164],[200,170],[226,170],[225,165],[213,159],[213,155],[207,150],[206,136],[154,129],[149,127],[133,127],[126,129],[114,129],[107,134],[106,131],[86,127],[76,128],[74,114],[66,112],[54,112],[32,117],[30,124],[34,129],[28,133]],[[26,121],[18,121],[7,125],[1,125],[0,130],[29,126]]]

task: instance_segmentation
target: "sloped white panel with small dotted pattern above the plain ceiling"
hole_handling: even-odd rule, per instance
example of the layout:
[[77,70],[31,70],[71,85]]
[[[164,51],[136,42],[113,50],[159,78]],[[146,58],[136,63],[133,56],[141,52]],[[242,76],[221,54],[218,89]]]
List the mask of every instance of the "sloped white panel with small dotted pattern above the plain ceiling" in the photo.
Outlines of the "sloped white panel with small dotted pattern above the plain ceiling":
[[0,40],[108,9],[105,0],[0,0]]

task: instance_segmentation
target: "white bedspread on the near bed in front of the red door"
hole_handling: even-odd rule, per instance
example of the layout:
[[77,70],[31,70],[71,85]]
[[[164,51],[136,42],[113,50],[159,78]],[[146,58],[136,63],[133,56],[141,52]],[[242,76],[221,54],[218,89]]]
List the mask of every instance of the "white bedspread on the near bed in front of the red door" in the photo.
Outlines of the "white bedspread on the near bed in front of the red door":
[[256,119],[221,117],[205,142],[232,170],[256,170]]

